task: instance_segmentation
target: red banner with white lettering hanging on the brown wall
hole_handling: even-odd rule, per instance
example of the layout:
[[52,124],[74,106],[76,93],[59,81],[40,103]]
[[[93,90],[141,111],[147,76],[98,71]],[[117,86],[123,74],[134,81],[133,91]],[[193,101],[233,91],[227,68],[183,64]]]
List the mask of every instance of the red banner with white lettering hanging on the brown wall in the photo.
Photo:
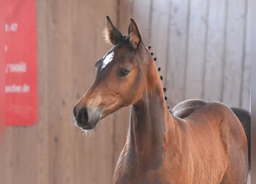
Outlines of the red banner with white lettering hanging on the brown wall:
[[6,125],[37,121],[37,47],[35,0],[6,1]]

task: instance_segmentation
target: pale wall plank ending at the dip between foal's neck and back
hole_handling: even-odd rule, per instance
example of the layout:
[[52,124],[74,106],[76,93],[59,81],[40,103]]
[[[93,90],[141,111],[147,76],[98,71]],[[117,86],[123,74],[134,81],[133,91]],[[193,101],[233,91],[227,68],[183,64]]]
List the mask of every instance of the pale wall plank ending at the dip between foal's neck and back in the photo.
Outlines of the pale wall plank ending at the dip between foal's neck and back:
[[190,0],[171,1],[169,20],[169,46],[166,61],[167,97],[171,107],[184,100],[185,72],[186,72],[186,45],[190,21]]

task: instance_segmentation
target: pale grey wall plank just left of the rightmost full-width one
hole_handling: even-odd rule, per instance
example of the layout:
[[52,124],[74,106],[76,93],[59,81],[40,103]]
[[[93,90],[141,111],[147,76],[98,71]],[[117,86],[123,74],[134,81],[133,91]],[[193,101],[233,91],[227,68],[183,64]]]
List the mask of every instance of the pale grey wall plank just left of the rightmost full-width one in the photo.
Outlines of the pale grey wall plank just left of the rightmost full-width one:
[[225,44],[226,2],[209,1],[209,29],[206,45],[206,66],[203,99],[207,101],[221,100],[221,80],[223,79],[223,60]]

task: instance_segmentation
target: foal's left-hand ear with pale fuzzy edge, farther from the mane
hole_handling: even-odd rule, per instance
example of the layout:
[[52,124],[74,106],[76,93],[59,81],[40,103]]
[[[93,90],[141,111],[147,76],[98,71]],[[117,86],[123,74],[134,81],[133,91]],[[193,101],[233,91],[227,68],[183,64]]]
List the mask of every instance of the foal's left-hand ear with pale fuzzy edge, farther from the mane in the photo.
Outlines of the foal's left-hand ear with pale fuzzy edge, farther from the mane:
[[103,31],[106,43],[112,43],[113,45],[119,44],[123,40],[123,35],[113,25],[109,16],[106,16],[106,27]]

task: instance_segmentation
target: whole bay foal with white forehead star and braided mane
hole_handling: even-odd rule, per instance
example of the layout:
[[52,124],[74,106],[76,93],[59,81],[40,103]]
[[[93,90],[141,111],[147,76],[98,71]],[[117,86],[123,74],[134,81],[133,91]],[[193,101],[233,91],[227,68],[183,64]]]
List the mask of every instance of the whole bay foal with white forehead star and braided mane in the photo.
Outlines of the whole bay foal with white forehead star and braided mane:
[[245,184],[247,139],[232,110],[192,99],[170,113],[135,21],[123,36],[107,17],[105,39],[114,46],[95,63],[93,85],[74,106],[74,117],[78,127],[93,129],[102,118],[131,106],[113,183]]

